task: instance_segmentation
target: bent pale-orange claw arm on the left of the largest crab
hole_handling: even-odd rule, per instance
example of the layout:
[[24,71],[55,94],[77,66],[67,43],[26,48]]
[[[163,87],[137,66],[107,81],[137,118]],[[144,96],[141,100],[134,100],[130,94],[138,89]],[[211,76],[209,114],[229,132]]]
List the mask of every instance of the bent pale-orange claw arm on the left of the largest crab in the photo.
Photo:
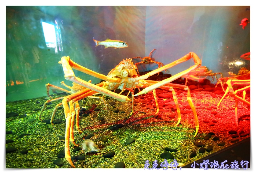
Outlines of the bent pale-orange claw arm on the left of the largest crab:
[[[119,95],[119,94],[116,94],[110,90],[107,90],[107,89],[104,89],[104,88],[101,88],[97,85],[93,85],[91,83],[88,83],[80,78],[77,78],[74,74],[74,71],[72,70],[72,68],[76,69],[76,70],[79,70],[81,72],[84,72],[84,73],[87,73],[87,74],[90,74],[90,75],[93,75],[94,77],[97,77],[97,78],[100,78],[100,79],[103,79],[103,80],[106,80],[106,81],[109,81],[109,82],[116,82],[118,81],[119,79],[117,78],[108,78],[107,76],[105,75],[102,75],[102,74],[99,74],[99,73],[96,73],[92,70],[89,70],[85,67],[82,67],[81,65],[78,65],[77,63],[73,62],[72,60],[70,60],[70,57],[67,56],[63,56],[61,58],[61,61],[59,61],[59,63],[62,64],[62,67],[63,67],[63,71],[64,71],[64,74],[65,74],[65,79],[67,80],[70,80],[72,82],[75,82],[79,85],[82,85],[86,88],[90,88],[92,90],[95,90],[97,92],[100,92],[102,94],[105,94],[109,97],[112,97],[118,101],[131,101],[131,99],[129,99],[128,97],[126,96],[122,96],[122,95]],[[102,82],[101,84],[104,84],[104,82]]]

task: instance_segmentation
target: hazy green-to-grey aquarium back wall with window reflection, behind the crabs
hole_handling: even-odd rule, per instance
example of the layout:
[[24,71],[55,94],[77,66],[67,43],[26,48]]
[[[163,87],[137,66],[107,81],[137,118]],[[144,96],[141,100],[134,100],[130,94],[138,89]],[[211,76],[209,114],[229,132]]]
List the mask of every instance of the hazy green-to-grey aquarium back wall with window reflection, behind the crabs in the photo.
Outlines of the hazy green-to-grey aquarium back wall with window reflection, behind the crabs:
[[[250,6],[6,6],[6,102],[47,96],[45,84],[65,80],[62,56],[107,75],[126,58],[149,56],[163,65],[195,52],[213,73],[250,70]],[[93,39],[121,40],[125,48],[97,47]],[[141,62],[133,59],[134,63]],[[172,75],[193,60],[166,72]],[[158,64],[140,64],[140,72]],[[74,70],[93,84],[101,79]],[[211,78],[211,77],[209,77]],[[51,90],[50,93],[56,91]]]

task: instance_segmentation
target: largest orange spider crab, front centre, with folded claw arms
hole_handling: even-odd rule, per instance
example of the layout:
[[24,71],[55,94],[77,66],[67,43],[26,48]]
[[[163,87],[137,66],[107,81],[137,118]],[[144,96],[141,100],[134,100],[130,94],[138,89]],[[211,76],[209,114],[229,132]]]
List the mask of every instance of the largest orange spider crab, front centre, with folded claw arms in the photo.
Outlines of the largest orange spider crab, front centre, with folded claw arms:
[[[185,62],[191,58],[193,58],[195,65],[191,66],[190,68],[188,68],[184,71],[181,71],[178,74],[173,75],[170,78],[167,78],[160,82],[145,80],[149,76],[152,76],[152,75],[159,73],[163,70],[166,70],[168,68],[171,68],[171,67],[173,67],[179,63]],[[129,59],[126,58],[126,60],[123,59],[123,61],[121,61],[119,63],[119,65],[117,65],[114,69],[112,69],[108,73],[107,76],[105,76],[103,74],[99,74],[92,70],[89,70],[81,65],[78,65],[77,63],[72,61],[69,56],[63,56],[61,58],[61,60],[59,61],[59,63],[62,64],[63,71],[65,74],[64,77],[66,80],[70,80],[72,82],[75,82],[76,84],[86,87],[86,89],[83,89],[77,93],[71,94],[68,97],[64,97],[64,99],[62,100],[65,119],[66,119],[65,158],[72,167],[75,168],[74,164],[71,161],[69,140],[71,140],[71,142],[75,146],[78,146],[74,142],[74,137],[73,137],[73,125],[72,124],[74,124],[74,115],[75,115],[75,109],[74,109],[73,103],[84,98],[85,96],[92,95],[91,93],[94,94],[96,92],[99,92],[99,93],[102,93],[103,95],[107,95],[109,97],[112,97],[112,98],[122,101],[122,102],[132,101],[132,112],[133,112],[134,96],[146,94],[150,91],[153,91],[155,101],[157,102],[156,93],[155,93],[156,88],[170,90],[173,93],[174,102],[175,102],[176,108],[177,108],[178,123],[176,125],[178,125],[181,120],[181,114],[180,114],[180,109],[178,107],[177,96],[175,95],[175,91],[173,90],[173,88],[180,88],[180,89],[187,90],[188,91],[187,100],[188,100],[190,107],[192,108],[192,111],[193,111],[193,114],[195,117],[196,132],[195,132],[194,137],[198,133],[198,130],[199,130],[198,118],[197,118],[195,107],[192,103],[191,94],[189,92],[188,86],[170,83],[170,82],[182,77],[183,75],[188,74],[190,71],[195,70],[199,66],[201,66],[201,60],[198,58],[198,56],[195,53],[190,52],[189,54],[185,55],[184,57],[182,57],[178,60],[175,60],[172,63],[169,63],[165,66],[162,66],[156,70],[153,70],[153,71],[151,71],[145,75],[141,75],[139,77],[136,72],[137,67],[133,65],[133,62],[131,62],[131,60],[132,60],[131,58],[129,58]],[[89,82],[86,82],[86,81],[76,77],[72,68],[79,70],[83,73],[90,74],[94,77],[100,78],[104,81],[99,84],[93,85]],[[144,88],[144,89],[134,95],[133,90],[135,88]],[[119,94],[117,94],[117,93],[114,93],[111,91],[111,90],[115,90],[115,89],[120,89],[121,92]],[[120,95],[126,89],[132,93],[132,100],[129,99],[127,96]],[[67,104],[68,102],[69,102],[70,107],[68,107],[68,104]],[[158,110],[159,110],[159,108],[158,108]],[[131,114],[132,114],[132,112],[131,112]]]

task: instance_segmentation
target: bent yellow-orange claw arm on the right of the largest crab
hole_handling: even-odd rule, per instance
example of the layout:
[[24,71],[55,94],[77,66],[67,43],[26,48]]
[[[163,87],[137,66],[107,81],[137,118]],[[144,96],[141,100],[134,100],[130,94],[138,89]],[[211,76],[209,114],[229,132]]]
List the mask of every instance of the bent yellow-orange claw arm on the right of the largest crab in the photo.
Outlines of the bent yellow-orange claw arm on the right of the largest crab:
[[182,71],[182,72],[180,72],[178,74],[173,75],[172,77],[169,77],[169,78],[167,78],[165,80],[162,80],[162,81],[160,81],[160,82],[158,82],[158,83],[156,83],[154,85],[151,85],[151,86],[149,86],[147,88],[144,88],[141,92],[135,94],[134,96],[138,96],[138,95],[141,95],[141,94],[146,94],[149,91],[152,91],[153,89],[159,88],[162,85],[170,83],[170,82],[172,82],[172,81],[174,81],[174,80],[176,80],[176,79],[178,79],[178,78],[188,74],[190,71],[195,70],[196,68],[201,66],[201,60],[199,59],[199,57],[195,53],[190,52],[189,54],[185,55],[184,57],[182,57],[182,58],[180,58],[178,60],[175,60],[172,63],[164,65],[164,66],[162,66],[162,67],[160,67],[160,68],[158,68],[156,70],[153,70],[153,71],[151,71],[151,72],[149,72],[149,73],[147,73],[145,75],[142,75],[140,77],[137,77],[139,80],[147,79],[151,75],[154,75],[154,74],[159,73],[159,72],[161,72],[163,70],[171,68],[171,67],[173,67],[173,66],[175,66],[175,65],[177,65],[179,63],[185,62],[185,61],[187,61],[187,60],[189,60],[191,58],[193,58],[193,60],[195,62],[195,65],[191,66],[190,68],[188,68],[188,69],[186,69],[186,70],[184,70],[184,71]]

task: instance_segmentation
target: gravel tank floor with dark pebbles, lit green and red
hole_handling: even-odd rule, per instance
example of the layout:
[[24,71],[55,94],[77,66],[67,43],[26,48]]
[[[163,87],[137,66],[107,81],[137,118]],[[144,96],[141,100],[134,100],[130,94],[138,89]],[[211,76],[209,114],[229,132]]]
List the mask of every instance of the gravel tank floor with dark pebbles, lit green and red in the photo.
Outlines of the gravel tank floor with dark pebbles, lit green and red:
[[[181,109],[181,123],[171,92],[170,101],[158,97],[160,112],[154,107],[153,94],[135,98],[134,113],[131,103],[105,97],[106,110],[100,99],[79,101],[78,133],[74,126],[76,144],[90,138],[101,150],[83,153],[70,143],[72,162],[76,168],[144,168],[146,160],[152,164],[164,158],[184,165],[199,160],[250,136],[250,107],[238,106],[239,126],[235,123],[235,101],[226,97],[217,109],[223,93],[192,90],[192,100],[198,113],[199,133],[195,134],[195,119],[188,105],[187,91],[176,90]],[[53,98],[67,94],[52,95]],[[247,100],[249,96],[246,96]],[[6,103],[6,168],[71,168],[64,158],[65,117],[62,105],[54,116],[54,125],[47,124],[59,101],[48,104],[43,111],[43,122],[38,119],[43,103],[49,98],[39,97]],[[249,98],[250,100],[250,98]],[[209,134],[210,133],[210,134]],[[89,137],[87,137],[89,135]],[[87,138],[86,138],[87,137]],[[56,143],[57,142],[57,143]],[[56,145],[54,145],[56,143]],[[168,153],[167,153],[168,152]],[[193,152],[196,152],[193,153]],[[194,157],[193,157],[194,156]],[[162,158],[164,157],[164,158]],[[152,166],[151,166],[152,167]]]

